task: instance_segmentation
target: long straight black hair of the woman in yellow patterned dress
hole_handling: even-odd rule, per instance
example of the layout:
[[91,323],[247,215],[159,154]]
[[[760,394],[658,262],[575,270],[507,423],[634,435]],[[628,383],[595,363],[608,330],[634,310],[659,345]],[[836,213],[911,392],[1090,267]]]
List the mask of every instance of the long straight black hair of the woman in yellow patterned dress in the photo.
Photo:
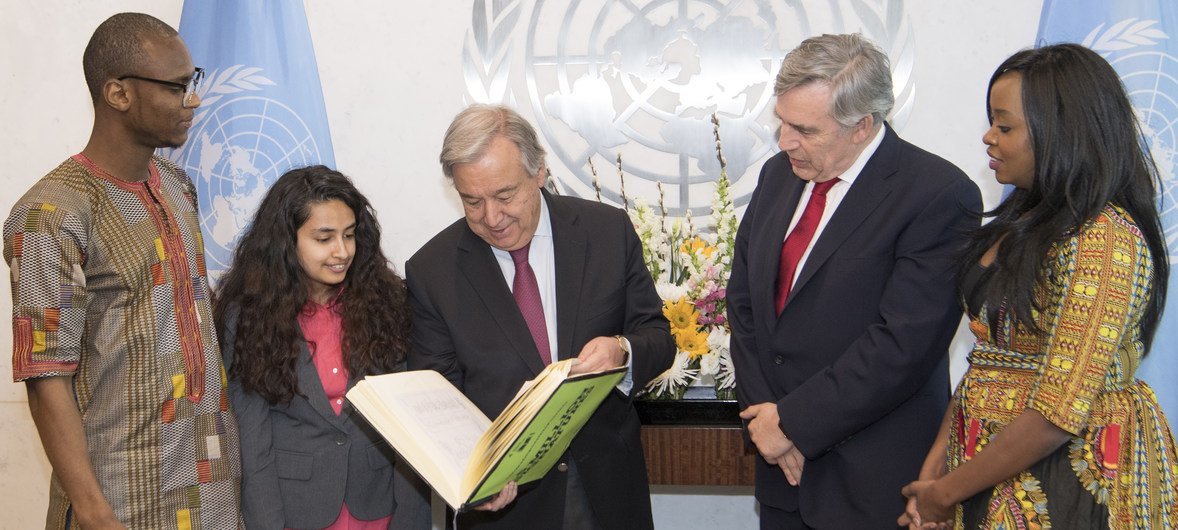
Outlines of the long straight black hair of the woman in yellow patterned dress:
[[[1096,52],[1074,44],[1024,49],[1011,55],[990,78],[1023,75],[1023,108],[1034,154],[1030,190],[1018,188],[987,217],[960,264],[959,277],[995,241],[998,256],[985,286],[992,307],[1007,300],[1030,330],[1034,292],[1051,246],[1100,214],[1107,204],[1125,208],[1150,249],[1153,277],[1141,318],[1146,352],[1166,300],[1170,259],[1157,211],[1158,172],[1150,157],[1133,106],[1117,72]],[[986,111],[990,114],[990,91]],[[993,119],[991,119],[993,121]]]

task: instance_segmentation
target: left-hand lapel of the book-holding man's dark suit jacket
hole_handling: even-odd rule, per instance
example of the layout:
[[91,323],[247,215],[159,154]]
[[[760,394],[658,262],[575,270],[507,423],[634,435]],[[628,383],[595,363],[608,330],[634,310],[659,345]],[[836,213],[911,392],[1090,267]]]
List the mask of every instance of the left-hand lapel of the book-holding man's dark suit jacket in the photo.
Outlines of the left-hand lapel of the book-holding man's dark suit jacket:
[[487,307],[488,314],[511,343],[519,358],[532,371],[532,375],[538,375],[544,369],[544,363],[540,360],[540,351],[536,350],[536,343],[531,340],[531,332],[528,331],[528,323],[519,313],[519,306],[516,305],[511,291],[503,281],[503,270],[495,260],[491,246],[479,239],[469,227],[462,232],[462,238],[458,241],[458,270],[474,286],[475,294]]

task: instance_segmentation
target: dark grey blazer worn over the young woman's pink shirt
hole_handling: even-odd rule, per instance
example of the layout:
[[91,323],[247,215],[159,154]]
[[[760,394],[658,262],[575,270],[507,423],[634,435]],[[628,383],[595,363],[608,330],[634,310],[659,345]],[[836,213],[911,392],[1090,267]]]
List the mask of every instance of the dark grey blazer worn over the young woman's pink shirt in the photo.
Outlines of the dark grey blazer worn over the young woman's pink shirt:
[[[227,367],[233,363],[236,311],[226,327],[221,353]],[[277,405],[230,379],[230,402],[240,425],[246,528],[324,528],[339,516],[344,501],[357,518],[377,519],[397,510],[397,499],[409,499],[404,504],[416,512],[397,510],[390,528],[429,528],[428,502],[415,497],[410,479],[395,469],[399,466],[393,465],[392,448],[346,400],[339,416],[331,409],[306,343],[296,371],[302,396]],[[355,384],[350,377],[348,387]]]

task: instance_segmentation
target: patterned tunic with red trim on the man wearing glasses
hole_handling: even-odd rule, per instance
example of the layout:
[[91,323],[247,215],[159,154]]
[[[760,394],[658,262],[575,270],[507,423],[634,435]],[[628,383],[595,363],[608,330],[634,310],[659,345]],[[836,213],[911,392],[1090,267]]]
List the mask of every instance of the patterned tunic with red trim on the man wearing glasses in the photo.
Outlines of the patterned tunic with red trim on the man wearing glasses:
[[[72,376],[98,483],[128,528],[240,525],[240,451],[192,183],[75,155],[5,223],[13,378]],[[46,528],[77,528],[57,476]]]

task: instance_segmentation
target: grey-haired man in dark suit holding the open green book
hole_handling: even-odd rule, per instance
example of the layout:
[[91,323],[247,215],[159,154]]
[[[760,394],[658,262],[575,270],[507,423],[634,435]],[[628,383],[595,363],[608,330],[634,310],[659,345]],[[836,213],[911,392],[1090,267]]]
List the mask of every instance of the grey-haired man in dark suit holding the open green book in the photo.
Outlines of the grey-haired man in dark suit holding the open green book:
[[651,529],[631,391],[670,366],[675,344],[629,217],[543,191],[544,150],[508,107],[458,113],[441,161],[465,217],[405,265],[409,367],[441,372],[492,418],[552,360],[629,367],[543,479],[458,526]]

